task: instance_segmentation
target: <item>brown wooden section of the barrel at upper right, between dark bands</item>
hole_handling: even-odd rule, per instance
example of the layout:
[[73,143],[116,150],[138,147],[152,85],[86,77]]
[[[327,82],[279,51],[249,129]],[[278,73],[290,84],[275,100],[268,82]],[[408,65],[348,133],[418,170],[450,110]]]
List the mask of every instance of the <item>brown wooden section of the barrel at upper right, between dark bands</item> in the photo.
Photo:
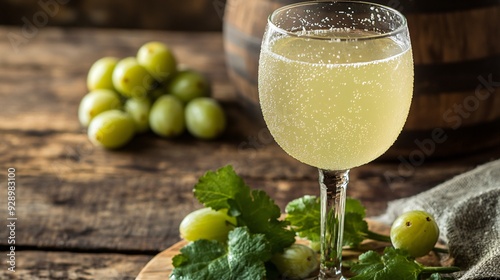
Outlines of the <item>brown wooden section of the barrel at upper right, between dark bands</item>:
[[500,55],[500,5],[406,18],[417,65]]

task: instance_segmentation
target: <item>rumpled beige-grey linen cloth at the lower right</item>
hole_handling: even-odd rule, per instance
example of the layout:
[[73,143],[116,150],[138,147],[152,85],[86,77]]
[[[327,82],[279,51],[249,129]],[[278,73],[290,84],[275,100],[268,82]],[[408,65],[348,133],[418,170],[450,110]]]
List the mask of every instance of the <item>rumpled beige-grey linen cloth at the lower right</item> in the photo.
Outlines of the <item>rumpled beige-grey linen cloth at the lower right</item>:
[[457,279],[500,279],[500,159],[428,191],[390,202],[377,219],[391,224],[409,210],[434,216],[441,240],[462,269],[454,275]]

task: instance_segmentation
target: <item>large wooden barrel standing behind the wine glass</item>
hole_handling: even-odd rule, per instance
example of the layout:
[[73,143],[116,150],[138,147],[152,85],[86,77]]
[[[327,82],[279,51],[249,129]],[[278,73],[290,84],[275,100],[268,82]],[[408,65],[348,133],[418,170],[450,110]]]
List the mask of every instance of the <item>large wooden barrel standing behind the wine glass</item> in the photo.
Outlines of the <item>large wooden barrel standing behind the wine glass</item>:
[[[257,68],[268,15],[293,0],[228,0],[230,79],[262,121]],[[375,1],[408,19],[415,61],[410,115],[383,158],[448,157],[500,145],[500,0]]]

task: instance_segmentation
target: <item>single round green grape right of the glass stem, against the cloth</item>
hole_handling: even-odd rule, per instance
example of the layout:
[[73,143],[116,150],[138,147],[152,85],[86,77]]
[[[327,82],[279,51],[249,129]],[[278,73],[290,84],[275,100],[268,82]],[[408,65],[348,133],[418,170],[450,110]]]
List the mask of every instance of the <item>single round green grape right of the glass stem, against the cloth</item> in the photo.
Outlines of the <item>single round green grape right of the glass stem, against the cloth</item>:
[[417,258],[427,255],[439,238],[434,218],[424,211],[409,211],[399,216],[391,227],[391,242]]

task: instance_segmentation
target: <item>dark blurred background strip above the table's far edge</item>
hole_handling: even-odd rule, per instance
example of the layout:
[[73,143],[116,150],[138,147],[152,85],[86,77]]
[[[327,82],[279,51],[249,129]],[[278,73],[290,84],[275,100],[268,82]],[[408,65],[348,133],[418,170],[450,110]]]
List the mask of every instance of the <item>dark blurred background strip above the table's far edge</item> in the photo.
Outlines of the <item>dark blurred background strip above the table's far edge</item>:
[[[249,0],[252,1],[252,0]],[[0,0],[0,25],[220,31],[225,0]]]

